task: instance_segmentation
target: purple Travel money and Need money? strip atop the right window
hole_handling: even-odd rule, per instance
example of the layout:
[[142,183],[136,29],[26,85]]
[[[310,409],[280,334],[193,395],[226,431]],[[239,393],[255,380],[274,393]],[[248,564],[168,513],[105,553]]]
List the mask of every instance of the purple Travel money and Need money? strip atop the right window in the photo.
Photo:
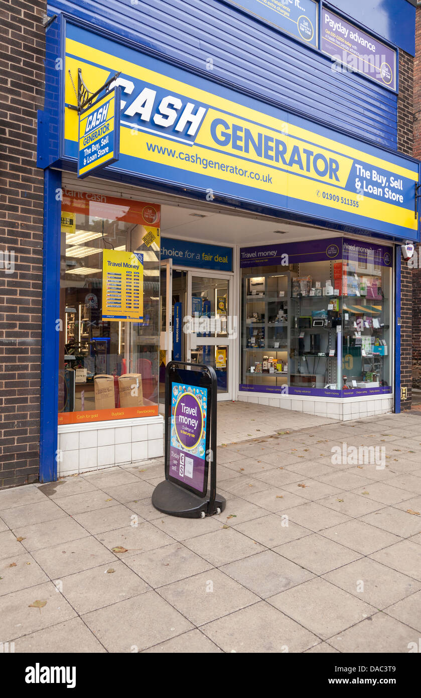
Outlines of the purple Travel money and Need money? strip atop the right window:
[[392,266],[392,247],[360,242],[346,237],[335,237],[305,242],[242,247],[240,267],[285,266],[300,262],[325,260],[358,260],[380,267]]

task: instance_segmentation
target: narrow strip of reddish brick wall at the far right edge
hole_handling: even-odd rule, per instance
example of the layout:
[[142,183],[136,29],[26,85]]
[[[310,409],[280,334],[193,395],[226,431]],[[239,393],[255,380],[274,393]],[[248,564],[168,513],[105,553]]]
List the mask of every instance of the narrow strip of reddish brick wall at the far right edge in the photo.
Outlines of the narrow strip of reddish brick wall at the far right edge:
[[[414,60],[414,146],[413,156],[421,158],[421,4],[418,3],[415,22]],[[421,260],[421,246],[415,248],[418,263]],[[413,387],[421,389],[421,269],[413,268]]]

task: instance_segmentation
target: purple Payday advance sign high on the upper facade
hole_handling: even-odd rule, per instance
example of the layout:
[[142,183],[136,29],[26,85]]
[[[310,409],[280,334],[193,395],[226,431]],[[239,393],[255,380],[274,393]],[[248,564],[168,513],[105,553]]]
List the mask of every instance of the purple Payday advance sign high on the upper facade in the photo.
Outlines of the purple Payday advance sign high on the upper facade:
[[396,51],[327,10],[321,10],[321,50],[340,66],[396,91]]

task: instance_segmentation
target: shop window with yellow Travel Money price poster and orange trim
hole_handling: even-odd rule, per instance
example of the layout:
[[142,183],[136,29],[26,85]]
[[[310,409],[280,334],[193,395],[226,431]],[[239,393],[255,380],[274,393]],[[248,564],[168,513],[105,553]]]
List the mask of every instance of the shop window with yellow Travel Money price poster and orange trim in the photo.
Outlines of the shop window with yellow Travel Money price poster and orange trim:
[[59,424],[158,414],[160,209],[63,192]]

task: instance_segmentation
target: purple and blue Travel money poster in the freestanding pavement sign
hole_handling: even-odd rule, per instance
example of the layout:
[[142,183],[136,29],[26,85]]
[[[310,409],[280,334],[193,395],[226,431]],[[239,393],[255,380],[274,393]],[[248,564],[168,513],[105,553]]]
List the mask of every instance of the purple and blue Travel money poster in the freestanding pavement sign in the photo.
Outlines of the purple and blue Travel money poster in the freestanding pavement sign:
[[199,493],[204,489],[207,402],[206,388],[171,384],[169,475]]

